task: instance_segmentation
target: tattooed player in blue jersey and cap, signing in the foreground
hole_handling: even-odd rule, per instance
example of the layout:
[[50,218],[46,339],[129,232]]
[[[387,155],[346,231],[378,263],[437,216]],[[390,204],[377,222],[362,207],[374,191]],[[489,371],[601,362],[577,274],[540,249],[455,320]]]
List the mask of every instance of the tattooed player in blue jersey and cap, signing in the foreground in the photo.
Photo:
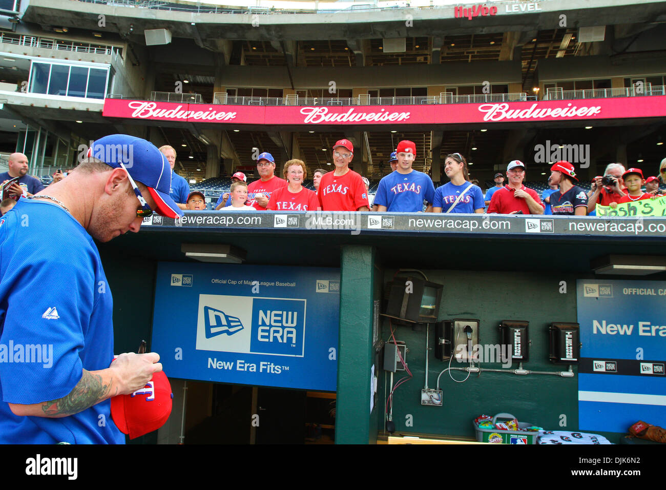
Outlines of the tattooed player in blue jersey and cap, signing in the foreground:
[[[136,233],[153,210],[181,216],[170,175],[145,139],[103,137],[67,179],[0,220],[0,353],[13,345],[4,353],[14,357],[0,357],[0,443],[125,443],[110,398],[145,387],[162,365],[157,353],[114,360],[113,299],[93,238]],[[30,346],[33,359],[15,362]]]

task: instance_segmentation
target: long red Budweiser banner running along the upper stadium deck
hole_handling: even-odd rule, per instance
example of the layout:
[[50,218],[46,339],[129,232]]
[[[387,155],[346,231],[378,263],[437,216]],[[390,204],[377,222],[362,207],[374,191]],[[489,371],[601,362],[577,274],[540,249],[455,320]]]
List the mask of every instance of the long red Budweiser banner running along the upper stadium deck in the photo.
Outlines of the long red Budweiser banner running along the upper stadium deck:
[[[294,105],[217,105],[105,99],[103,115],[121,119],[254,125],[320,127],[475,123],[527,123],[590,119],[666,117],[666,96],[613,97],[576,101],[523,101],[469,104],[354,105],[346,107]],[[423,129],[423,128],[419,128]]]

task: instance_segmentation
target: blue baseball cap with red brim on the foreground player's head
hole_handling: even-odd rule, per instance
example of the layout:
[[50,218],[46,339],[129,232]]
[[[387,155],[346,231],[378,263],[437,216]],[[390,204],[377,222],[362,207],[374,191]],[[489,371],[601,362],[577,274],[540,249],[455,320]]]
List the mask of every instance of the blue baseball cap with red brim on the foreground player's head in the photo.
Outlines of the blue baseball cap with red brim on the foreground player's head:
[[130,135],[109,135],[95,141],[87,156],[115,169],[121,168],[122,163],[135,181],[148,187],[157,204],[155,212],[174,219],[183,215],[169,196],[171,167],[153,143]]

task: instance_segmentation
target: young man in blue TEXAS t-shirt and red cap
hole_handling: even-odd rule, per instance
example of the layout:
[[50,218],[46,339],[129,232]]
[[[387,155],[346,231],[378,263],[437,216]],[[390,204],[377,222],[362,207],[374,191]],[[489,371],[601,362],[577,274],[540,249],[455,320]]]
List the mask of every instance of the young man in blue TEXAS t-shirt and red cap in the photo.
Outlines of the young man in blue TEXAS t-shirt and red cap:
[[382,178],[374,198],[380,213],[418,213],[426,201],[430,212],[435,198],[435,186],[428,175],[412,169],[416,158],[416,145],[400,141],[397,149],[398,169]]

